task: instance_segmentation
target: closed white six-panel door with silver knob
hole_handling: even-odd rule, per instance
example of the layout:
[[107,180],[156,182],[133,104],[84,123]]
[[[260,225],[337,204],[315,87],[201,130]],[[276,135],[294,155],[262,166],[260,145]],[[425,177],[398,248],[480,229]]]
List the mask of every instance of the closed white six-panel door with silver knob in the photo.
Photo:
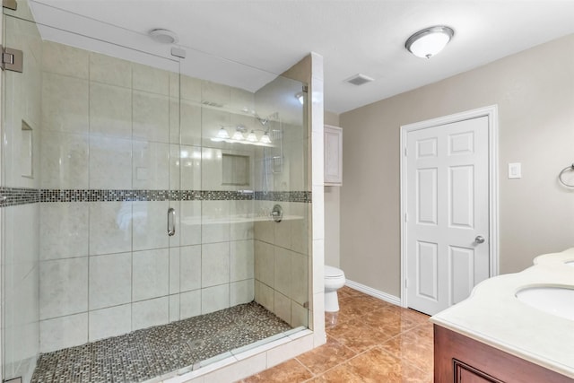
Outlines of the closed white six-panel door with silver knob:
[[413,130],[406,144],[407,302],[433,315],[489,277],[488,117]]

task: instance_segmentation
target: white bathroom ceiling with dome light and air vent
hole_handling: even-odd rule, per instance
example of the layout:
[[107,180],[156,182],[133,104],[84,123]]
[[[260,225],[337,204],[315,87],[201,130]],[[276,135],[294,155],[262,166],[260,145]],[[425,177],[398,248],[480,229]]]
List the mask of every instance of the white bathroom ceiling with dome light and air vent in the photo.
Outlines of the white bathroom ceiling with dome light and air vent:
[[[170,47],[148,33],[173,30],[179,47],[187,50],[183,73],[249,91],[317,52],[325,59],[326,109],[339,113],[574,33],[574,1],[567,0],[31,3],[37,22],[164,57],[170,57]],[[413,57],[404,41],[436,24],[452,27],[454,39],[430,60]],[[76,38],[57,30],[41,32],[45,39],[79,47],[98,45],[82,38],[72,41]],[[361,87],[345,82],[359,73],[375,81]]]

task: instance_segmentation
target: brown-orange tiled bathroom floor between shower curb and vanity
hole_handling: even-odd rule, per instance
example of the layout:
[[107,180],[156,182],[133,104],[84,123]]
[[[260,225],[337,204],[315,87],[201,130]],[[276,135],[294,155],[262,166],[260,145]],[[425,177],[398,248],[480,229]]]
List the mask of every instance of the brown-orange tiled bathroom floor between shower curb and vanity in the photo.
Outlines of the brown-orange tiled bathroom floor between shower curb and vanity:
[[339,306],[335,326],[326,318],[326,344],[240,382],[432,382],[428,316],[348,287]]

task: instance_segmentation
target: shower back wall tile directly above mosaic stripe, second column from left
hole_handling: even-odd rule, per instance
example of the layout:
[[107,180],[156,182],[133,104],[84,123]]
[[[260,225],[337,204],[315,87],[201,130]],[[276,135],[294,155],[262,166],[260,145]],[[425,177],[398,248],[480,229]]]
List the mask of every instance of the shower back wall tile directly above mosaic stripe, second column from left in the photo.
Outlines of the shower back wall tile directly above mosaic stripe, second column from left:
[[131,140],[90,137],[90,188],[132,188]]

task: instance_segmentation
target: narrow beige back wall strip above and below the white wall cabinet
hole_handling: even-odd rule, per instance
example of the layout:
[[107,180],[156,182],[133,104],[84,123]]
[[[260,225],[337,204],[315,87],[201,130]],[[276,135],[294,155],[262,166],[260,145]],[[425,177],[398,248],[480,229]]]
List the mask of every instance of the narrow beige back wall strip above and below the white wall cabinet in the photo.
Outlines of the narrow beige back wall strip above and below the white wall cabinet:
[[[325,125],[340,126],[339,115],[325,111]],[[325,187],[325,264],[340,264],[340,196],[341,187]]]

